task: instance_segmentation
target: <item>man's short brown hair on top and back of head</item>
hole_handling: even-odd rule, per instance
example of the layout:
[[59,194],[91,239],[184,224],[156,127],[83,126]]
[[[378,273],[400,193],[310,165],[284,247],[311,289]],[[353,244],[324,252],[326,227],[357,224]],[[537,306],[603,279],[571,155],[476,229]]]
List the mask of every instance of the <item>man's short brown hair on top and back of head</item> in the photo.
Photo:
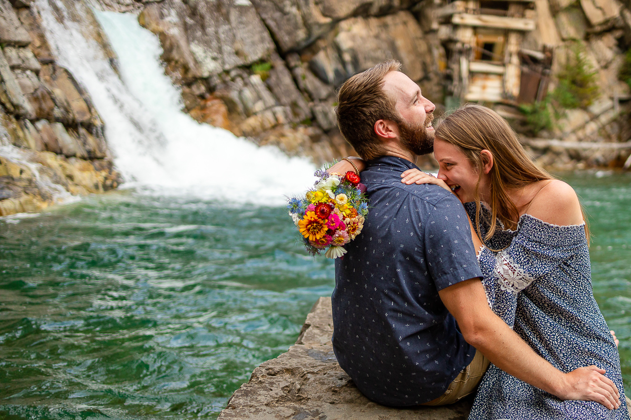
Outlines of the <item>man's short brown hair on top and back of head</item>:
[[380,62],[362,73],[355,74],[339,88],[335,114],[342,136],[364,160],[384,155],[384,147],[377,137],[377,120],[400,122],[394,110],[394,99],[384,92],[384,78],[391,71],[400,71],[396,60]]

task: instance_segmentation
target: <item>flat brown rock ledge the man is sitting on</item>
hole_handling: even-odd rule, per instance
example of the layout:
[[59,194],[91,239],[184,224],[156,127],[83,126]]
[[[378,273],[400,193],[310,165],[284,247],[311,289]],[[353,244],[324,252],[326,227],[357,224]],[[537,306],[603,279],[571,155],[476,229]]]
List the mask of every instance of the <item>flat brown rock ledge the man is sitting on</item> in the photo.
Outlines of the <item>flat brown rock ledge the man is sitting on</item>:
[[331,346],[331,298],[320,298],[296,344],[258,366],[218,420],[464,420],[471,399],[443,407],[397,409],[364,397],[341,370]]

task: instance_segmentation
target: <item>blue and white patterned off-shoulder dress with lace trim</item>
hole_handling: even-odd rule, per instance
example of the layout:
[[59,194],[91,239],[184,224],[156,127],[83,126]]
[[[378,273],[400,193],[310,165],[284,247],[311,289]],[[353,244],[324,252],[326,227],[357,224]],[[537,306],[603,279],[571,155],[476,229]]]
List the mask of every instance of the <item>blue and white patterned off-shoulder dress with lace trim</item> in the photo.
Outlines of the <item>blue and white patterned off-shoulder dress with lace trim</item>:
[[[475,204],[465,207],[475,220]],[[500,252],[483,247],[478,257],[493,312],[555,368],[606,370],[621,405],[608,410],[596,402],[562,401],[490,365],[469,420],[628,420],[620,356],[591,287],[585,225],[550,225],[524,214],[517,230],[498,231],[488,245],[498,249],[509,243]]]

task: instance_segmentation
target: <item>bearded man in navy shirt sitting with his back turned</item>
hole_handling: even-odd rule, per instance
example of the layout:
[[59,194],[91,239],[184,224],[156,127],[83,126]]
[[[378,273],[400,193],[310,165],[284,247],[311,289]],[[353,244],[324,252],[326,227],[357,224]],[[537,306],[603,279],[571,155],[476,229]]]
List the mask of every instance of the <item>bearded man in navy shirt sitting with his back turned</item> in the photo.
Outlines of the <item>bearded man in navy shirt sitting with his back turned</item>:
[[[434,105],[396,61],[341,86],[339,129],[368,161],[370,214],[336,260],[333,347],[364,395],[384,405],[451,404],[471,394],[489,361],[561,399],[618,407],[595,366],[562,373],[490,310],[469,219],[456,196],[406,185],[433,146]],[[477,351],[476,351],[477,349]]]

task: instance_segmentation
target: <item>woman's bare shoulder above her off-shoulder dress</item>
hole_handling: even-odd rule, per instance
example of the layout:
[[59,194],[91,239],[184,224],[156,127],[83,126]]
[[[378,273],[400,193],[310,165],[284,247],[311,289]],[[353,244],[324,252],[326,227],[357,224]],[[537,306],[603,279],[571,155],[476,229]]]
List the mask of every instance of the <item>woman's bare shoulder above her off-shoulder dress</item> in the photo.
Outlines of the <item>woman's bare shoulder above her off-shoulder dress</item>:
[[583,222],[579,197],[569,184],[557,179],[538,184],[542,187],[534,195],[528,214],[552,225],[580,225]]

